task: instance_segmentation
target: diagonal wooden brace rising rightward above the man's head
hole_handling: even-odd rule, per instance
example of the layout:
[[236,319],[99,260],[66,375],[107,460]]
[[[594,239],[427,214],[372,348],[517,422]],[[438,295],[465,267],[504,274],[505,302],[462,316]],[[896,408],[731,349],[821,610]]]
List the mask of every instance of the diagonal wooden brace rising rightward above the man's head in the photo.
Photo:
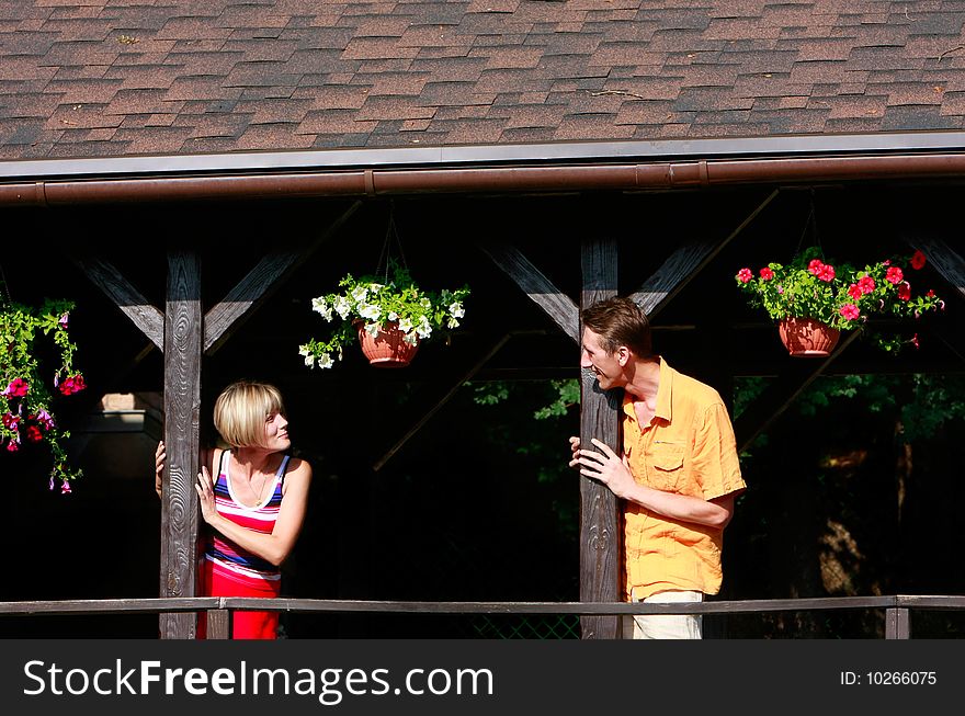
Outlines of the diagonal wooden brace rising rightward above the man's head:
[[639,305],[647,317],[652,317],[669,304],[684,286],[689,284],[711,261],[714,260],[730,241],[733,241],[757,216],[764,211],[780,190],[775,189],[751,212],[740,225],[723,241],[714,243],[706,240],[694,240],[677,249],[663,264],[657,269],[639,291],[631,298]]

